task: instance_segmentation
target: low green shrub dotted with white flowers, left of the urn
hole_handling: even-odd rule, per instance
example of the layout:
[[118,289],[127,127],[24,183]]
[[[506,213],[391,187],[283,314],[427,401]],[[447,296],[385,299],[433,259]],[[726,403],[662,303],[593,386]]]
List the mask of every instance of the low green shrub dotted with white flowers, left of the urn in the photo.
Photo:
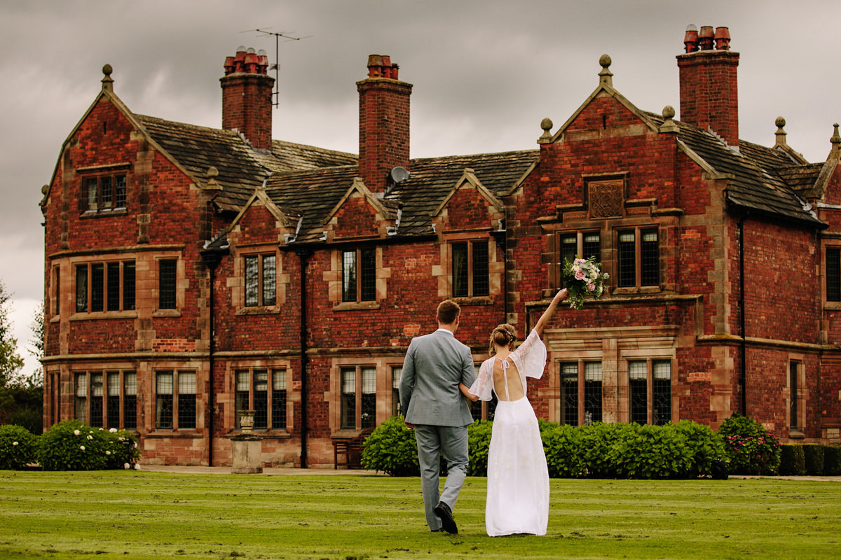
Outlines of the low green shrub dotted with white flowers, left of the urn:
[[41,436],[38,453],[44,470],[131,468],[138,458],[140,452],[130,432],[94,428],[77,420],[50,427]]

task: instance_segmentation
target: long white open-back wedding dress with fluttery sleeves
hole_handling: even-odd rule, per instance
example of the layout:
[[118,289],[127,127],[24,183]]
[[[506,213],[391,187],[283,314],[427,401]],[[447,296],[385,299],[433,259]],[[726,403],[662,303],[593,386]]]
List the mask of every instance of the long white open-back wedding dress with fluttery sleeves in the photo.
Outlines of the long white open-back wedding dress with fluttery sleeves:
[[[500,363],[505,384],[494,384],[494,366]],[[512,364],[513,363],[513,367]],[[526,397],[526,377],[540,379],[546,365],[546,346],[533,331],[505,360],[484,361],[470,393],[499,398],[488,453],[488,498],[484,524],[489,536],[532,533],[545,535],[549,519],[549,472],[537,416]],[[508,374],[518,374],[522,398],[509,400]]]

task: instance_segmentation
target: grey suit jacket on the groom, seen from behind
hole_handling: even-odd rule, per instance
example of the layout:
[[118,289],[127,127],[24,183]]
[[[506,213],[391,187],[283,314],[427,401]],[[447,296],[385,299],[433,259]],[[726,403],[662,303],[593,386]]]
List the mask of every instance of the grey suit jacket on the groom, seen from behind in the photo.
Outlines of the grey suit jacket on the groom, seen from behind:
[[400,410],[410,424],[467,426],[470,407],[458,384],[473,385],[470,348],[444,329],[413,338],[400,376]]

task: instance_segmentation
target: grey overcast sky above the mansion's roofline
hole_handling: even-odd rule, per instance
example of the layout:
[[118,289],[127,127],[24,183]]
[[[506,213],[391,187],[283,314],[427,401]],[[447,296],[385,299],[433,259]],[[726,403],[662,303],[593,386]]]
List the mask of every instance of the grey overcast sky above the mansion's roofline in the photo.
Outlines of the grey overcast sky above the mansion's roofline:
[[0,0],[0,280],[13,293],[21,353],[43,296],[38,203],[61,144],[97,96],[102,67],[135,113],[221,124],[225,56],[279,43],[273,138],[357,152],[355,82],[368,55],[390,55],[414,84],[411,156],[537,148],[598,85],[680,118],[678,69],[688,24],[726,26],[740,53],[739,135],[825,160],[841,121],[837,0]]

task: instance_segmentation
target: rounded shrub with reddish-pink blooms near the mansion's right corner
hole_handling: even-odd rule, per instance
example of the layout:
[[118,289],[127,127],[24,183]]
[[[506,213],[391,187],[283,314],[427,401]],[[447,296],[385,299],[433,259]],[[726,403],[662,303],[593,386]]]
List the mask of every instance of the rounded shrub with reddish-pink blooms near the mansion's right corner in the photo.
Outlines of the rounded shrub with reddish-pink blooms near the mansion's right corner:
[[776,474],[780,467],[780,442],[759,422],[733,414],[718,428],[732,474]]

